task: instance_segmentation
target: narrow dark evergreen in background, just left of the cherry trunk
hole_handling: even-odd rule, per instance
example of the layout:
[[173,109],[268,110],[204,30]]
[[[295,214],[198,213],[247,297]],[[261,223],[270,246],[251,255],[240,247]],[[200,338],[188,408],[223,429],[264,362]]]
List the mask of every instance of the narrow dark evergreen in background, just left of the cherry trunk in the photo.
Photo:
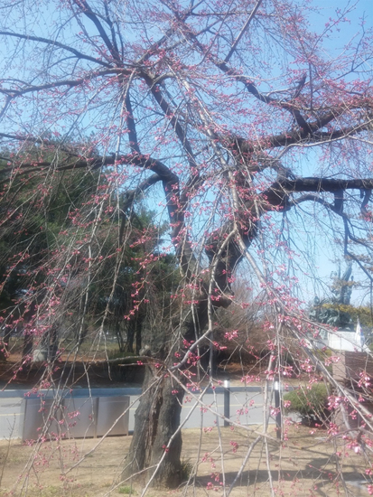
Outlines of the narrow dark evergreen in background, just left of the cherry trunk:
[[[113,284],[112,259],[107,260],[103,269],[105,286],[102,280],[97,286],[98,302],[93,312],[98,314],[101,310],[105,314],[108,305],[107,325],[115,329],[119,352],[140,353],[143,331],[151,333],[156,326],[155,316],[168,308],[170,294],[177,286],[175,258],[159,251],[160,237],[168,225],[156,226],[153,220],[154,212],[144,208],[123,214],[122,227],[129,225],[130,234],[114,294],[108,298]],[[110,239],[109,244],[114,244],[114,240]],[[150,259],[144,266],[146,258]]]

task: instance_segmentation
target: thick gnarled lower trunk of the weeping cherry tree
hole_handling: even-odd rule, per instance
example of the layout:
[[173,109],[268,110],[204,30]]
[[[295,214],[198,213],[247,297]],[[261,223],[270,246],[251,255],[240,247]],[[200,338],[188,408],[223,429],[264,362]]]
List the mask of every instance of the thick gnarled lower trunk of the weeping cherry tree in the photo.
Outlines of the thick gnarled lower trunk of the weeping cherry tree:
[[[135,412],[134,436],[126,458],[124,480],[134,477],[149,481],[154,476],[154,486],[168,488],[181,483],[182,433],[176,431],[180,427],[184,390],[163,366],[173,365],[174,352],[182,351],[179,346],[182,338],[188,342],[196,340],[205,328],[207,299],[201,298],[194,311],[193,314],[191,309],[185,310],[182,325],[161,326],[152,337],[152,357],[146,367],[144,397]],[[157,368],[156,361],[162,366]]]

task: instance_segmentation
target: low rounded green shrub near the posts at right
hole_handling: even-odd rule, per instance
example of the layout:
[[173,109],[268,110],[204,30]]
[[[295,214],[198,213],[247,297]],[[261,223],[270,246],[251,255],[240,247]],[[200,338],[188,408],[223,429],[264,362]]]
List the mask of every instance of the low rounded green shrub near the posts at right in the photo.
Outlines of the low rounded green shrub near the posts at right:
[[323,383],[315,383],[311,389],[301,388],[284,395],[285,412],[298,412],[305,424],[324,423],[331,415],[328,409],[328,390]]

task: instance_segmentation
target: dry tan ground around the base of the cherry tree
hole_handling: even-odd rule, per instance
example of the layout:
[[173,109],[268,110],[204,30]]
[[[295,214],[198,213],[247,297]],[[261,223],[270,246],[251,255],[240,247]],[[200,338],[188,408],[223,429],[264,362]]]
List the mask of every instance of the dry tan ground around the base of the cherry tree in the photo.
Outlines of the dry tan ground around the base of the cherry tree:
[[[247,455],[248,446],[262,430],[261,427],[249,428],[248,431],[220,428],[221,443],[217,427],[205,432],[183,430],[183,467],[185,474],[197,468],[195,479],[173,491],[149,489],[146,495],[223,495],[224,485],[228,491]],[[337,457],[332,455],[335,447],[326,440],[324,430],[295,425],[289,427],[286,437],[288,440],[280,444],[275,439],[274,427],[269,428],[266,436],[275,495],[368,495],[363,455],[355,454],[346,445],[337,447]],[[140,496],[141,484],[120,481],[120,468],[130,441],[131,436],[116,436],[46,442],[40,446],[27,446],[20,441],[0,442],[0,495]],[[337,483],[338,474],[343,475],[345,489]],[[263,438],[256,444],[230,495],[271,495]]]

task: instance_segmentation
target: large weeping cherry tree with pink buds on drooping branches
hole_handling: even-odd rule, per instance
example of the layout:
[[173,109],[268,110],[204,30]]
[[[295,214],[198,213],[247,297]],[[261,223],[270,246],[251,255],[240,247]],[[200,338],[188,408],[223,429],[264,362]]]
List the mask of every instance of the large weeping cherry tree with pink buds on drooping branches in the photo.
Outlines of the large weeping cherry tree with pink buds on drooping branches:
[[[103,261],[114,258],[110,302],[131,239],[131,224],[121,229],[124,192],[128,206],[144,196],[154,202],[159,222],[171,228],[168,253],[177,258],[181,280],[148,343],[146,395],[124,477],[179,482],[184,387],[194,378],[190,367],[200,347],[210,344],[216,310],[235,305],[238,263],[272,307],[264,324],[275,333],[268,379],[282,371],[290,333],[304,370],[317,365],[340,389],[318,356],[303,348],[311,324],[294,286],[310,264],[310,253],[296,255],[311,246],[307,239],[337,242],[372,279],[366,237],[373,188],[371,30],[360,29],[342,49],[332,40],[350,29],[353,8],[339,5],[313,30],[317,9],[286,0],[3,5],[3,144],[20,152],[30,143],[48,145],[41,137],[46,128],[61,137],[53,158],[7,157],[5,222],[14,224],[17,216],[14,181],[38,182],[37,205],[48,209],[51,179],[69,170],[98,173],[90,199],[71,203],[70,230],[60,234],[58,250],[48,251],[48,295],[37,314],[58,314],[75,286],[81,334],[90,288]],[[61,163],[64,141],[91,132],[91,145]],[[105,230],[113,241],[104,254],[98,233]],[[14,264],[24,257],[23,251]],[[151,261],[141,261],[145,273]],[[343,396],[352,402],[348,392]]]

